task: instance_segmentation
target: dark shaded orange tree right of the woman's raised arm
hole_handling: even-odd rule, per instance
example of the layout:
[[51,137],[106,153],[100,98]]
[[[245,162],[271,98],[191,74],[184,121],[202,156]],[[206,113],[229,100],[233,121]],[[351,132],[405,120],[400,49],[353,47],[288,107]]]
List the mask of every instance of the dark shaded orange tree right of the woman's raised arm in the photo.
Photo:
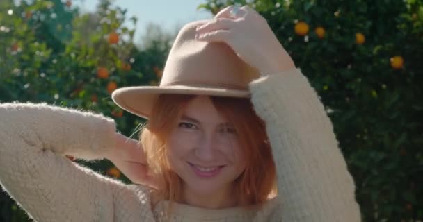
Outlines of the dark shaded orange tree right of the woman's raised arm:
[[209,0],[199,8],[247,3],[317,89],[363,221],[422,220],[423,1]]

